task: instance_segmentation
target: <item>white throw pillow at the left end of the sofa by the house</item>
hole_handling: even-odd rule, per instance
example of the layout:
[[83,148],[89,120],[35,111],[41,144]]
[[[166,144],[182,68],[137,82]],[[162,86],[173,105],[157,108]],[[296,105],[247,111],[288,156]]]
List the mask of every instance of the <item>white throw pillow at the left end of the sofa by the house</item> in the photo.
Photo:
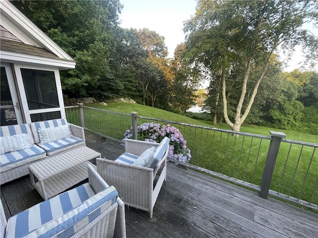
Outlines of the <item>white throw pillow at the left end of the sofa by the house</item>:
[[0,153],[24,150],[30,146],[29,134],[18,134],[0,137]]

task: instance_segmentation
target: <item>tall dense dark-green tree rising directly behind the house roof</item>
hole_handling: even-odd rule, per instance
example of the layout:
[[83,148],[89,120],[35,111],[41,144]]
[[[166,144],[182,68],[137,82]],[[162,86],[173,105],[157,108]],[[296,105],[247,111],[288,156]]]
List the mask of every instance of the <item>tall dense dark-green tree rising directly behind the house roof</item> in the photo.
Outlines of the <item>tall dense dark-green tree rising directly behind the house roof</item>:
[[122,95],[125,82],[115,52],[122,7],[118,0],[12,3],[77,61],[75,69],[61,72],[65,94],[97,98]]

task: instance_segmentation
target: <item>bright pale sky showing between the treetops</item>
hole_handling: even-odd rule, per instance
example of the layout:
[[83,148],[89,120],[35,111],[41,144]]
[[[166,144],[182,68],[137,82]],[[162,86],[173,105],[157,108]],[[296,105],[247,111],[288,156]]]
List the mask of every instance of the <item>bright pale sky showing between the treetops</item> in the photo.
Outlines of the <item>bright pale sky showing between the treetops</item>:
[[[168,57],[172,58],[175,47],[184,42],[183,22],[189,20],[195,13],[195,0],[120,0],[124,5],[120,14],[123,28],[136,28],[156,31],[165,38]],[[318,29],[311,29],[318,36]],[[284,56],[281,56],[281,61]],[[292,59],[284,71],[299,68],[303,61],[301,49],[296,48]],[[318,64],[315,67],[318,72]]]

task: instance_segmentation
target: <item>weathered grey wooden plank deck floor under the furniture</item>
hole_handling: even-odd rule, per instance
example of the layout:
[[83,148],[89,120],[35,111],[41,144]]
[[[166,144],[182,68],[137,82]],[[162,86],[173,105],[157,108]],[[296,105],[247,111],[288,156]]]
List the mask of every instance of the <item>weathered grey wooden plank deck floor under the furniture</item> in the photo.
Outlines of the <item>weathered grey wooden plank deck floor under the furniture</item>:
[[[93,133],[86,145],[103,157],[115,159],[124,147]],[[23,177],[1,186],[6,216],[42,201]],[[154,208],[147,212],[126,207],[128,238],[316,238],[318,215],[256,192],[168,163]]]

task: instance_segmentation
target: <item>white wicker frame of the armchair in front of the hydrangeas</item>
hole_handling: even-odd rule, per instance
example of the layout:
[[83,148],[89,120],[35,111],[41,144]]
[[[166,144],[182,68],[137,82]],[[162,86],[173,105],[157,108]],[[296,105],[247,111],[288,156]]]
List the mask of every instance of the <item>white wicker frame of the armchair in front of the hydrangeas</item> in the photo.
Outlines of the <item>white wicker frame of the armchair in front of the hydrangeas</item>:
[[[169,143],[169,142],[168,142]],[[159,143],[125,140],[125,151],[140,156],[145,150]],[[118,196],[125,205],[132,206],[150,213],[159,195],[163,181],[166,179],[166,158],[169,145],[162,148],[164,153],[154,169],[121,163],[117,160],[96,159],[97,173],[110,185],[116,187]]]

